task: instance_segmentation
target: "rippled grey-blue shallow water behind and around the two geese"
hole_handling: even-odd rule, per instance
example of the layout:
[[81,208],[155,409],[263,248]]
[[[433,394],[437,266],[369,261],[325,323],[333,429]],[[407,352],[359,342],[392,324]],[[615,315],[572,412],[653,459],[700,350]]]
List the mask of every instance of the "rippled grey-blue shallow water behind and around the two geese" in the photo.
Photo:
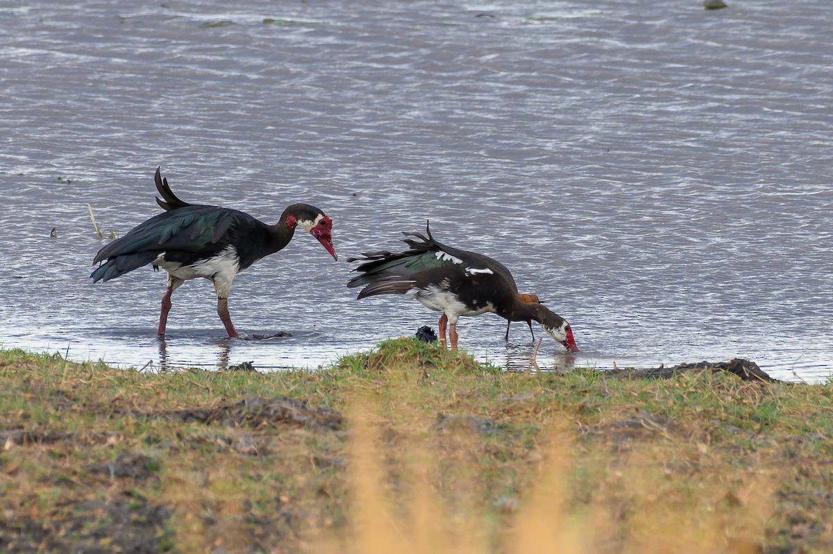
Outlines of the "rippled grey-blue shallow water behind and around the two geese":
[[[357,302],[357,252],[426,218],[510,267],[566,317],[541,367],[747,357],[823,381],[831,356],[829,2],[12,2],[0,7],[0,343],[119,366],[318,367],[436,327]],[[207,281],[87,279],[158,212],[157,165],[188,202],[334,220],[237,277],[227,341]],[[52,227],[57,238],[50,237]],[[529,367],[523,324],[467,318],[461,346]],[[536,334],[541,335],[540,327]],[[795,372],[795,373],[794,373]]]

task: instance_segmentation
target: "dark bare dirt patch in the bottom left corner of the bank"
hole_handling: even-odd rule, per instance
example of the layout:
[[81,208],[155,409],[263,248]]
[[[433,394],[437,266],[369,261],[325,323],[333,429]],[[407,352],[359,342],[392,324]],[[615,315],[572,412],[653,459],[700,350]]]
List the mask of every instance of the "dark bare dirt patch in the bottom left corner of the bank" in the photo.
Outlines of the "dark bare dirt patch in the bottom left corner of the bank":
[[68,517],[0,518],[0,552],[162,552],[170,510],[143,498],[80,502]]

